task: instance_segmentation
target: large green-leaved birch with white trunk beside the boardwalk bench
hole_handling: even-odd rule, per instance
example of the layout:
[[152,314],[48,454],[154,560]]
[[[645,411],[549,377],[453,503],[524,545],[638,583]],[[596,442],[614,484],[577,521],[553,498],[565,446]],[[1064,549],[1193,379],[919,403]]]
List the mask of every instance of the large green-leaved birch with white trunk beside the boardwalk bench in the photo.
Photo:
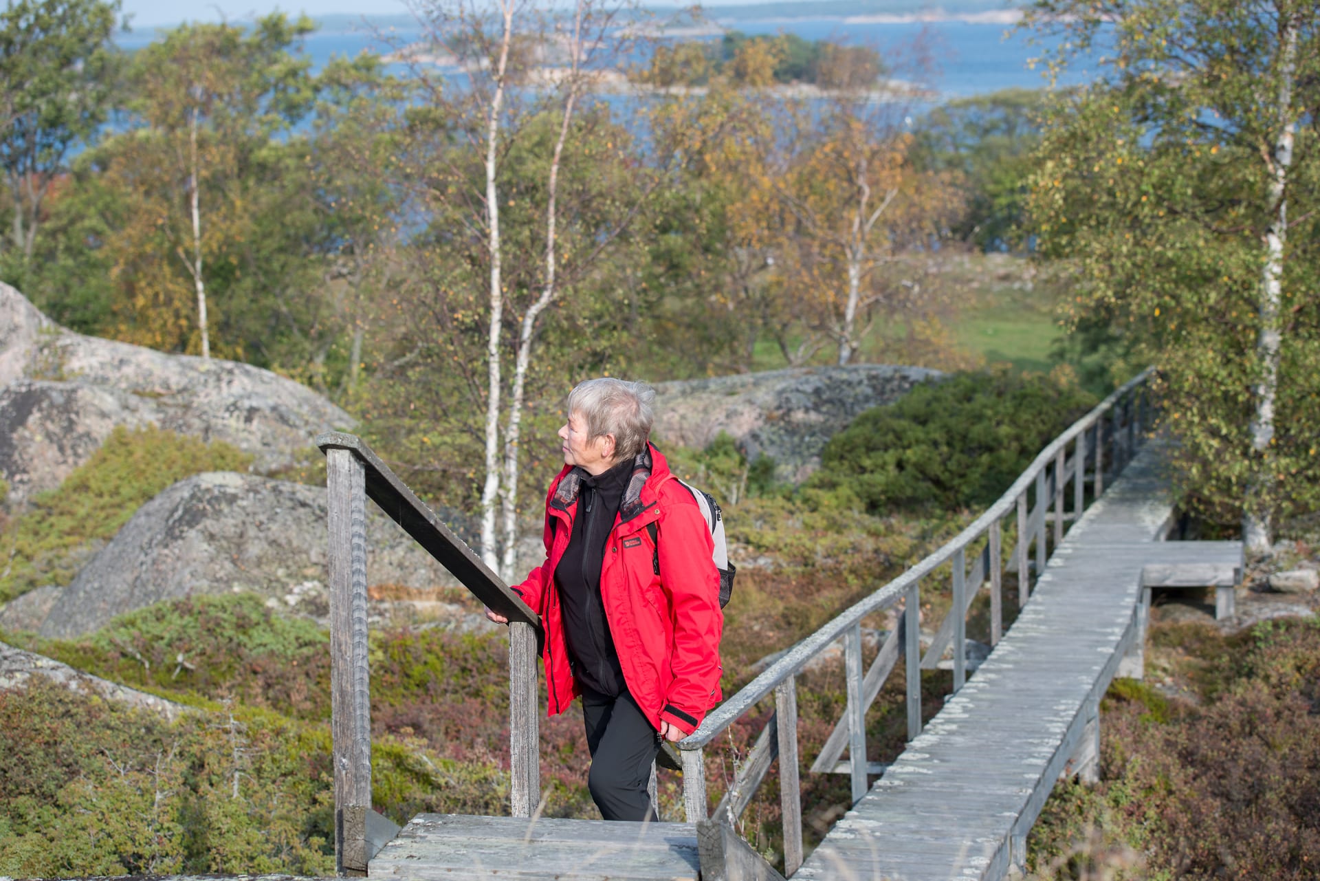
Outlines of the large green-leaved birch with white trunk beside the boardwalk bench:
[[1188,502],[1262,552],[1320,503],[1320,9],[1040,0],[1031,21],[1069,50],[1113,38],[1032,178],[1041,254],[1076,267],[1072,324],[1118,341],[1115,378],[1160,369]]

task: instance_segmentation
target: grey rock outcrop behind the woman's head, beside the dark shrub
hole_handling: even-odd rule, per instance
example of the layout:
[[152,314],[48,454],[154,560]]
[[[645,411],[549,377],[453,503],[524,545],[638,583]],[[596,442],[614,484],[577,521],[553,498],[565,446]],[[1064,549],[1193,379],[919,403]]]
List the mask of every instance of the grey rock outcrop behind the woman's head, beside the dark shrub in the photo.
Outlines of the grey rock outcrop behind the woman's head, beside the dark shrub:
[[747,457],[770,456],[780,479],[805,479],[821,449],[858,413],[888,404],[936,370],[853,365],[793,367],[656,386],[656,437],[705,446],[727,432]]

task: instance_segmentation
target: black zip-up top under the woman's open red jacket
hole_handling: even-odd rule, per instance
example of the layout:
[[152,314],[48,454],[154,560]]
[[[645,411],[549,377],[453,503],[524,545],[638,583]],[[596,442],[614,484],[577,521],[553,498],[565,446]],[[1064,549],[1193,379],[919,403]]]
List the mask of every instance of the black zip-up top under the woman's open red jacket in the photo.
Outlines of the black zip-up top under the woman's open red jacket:
[[597,477],[579,470],[582,489],[573,535],[554,568],[573,675],[579,686],[607,697],[618,697],[627,686],[601,602],[601,565],[632,468],[630,458]]

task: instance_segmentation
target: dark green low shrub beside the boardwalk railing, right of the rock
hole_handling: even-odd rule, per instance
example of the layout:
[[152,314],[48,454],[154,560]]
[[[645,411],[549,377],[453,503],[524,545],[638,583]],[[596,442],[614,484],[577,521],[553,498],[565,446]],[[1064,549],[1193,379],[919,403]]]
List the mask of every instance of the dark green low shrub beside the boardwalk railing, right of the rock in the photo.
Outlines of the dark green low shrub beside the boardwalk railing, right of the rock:
[[854,419],[808,485],[871,514],[986,506],[1094,404],[1065,374],[956,374]]

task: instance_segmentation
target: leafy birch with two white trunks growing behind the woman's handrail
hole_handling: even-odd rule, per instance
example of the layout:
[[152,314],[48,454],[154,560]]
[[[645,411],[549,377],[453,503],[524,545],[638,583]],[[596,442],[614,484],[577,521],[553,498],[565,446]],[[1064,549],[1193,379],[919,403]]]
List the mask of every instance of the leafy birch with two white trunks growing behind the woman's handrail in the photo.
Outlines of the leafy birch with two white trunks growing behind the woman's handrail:
[[[453,52],[469,77],[467,87],[453,88],[424,65],[413,70],[429,104],[413,118],[430,128],[404,169],[429,225],[418,236],[429,246],[418,252],[418,306],[436,324],[421,326],[434,333],[457,322],[434,341],[417,341],[418,353],[462,351],[441,363],[463,374],[467,407],[484,411],[480,548],[508,577],[528,461],[524,416],[548,380],[557,392],[565,384],[543,361],[568,345],[546,345],[556,339],[548,325],[556,313],[573,324],[590,313],[605,289],[598,271],[655,189],[655,176],[623,165],[631,159],[627,131],[589,100],[595,65],[626,57],[632,41],[631,29],[618,26],[620,13],[614,0],[578,0],[562,11],[516,0],[424,0],[417,8],[428,41]],[[573,358],[598,353],[606,337]],[[480,353],[469,347],[474,338]],[[469,374],[474,367],[483,380]]]

